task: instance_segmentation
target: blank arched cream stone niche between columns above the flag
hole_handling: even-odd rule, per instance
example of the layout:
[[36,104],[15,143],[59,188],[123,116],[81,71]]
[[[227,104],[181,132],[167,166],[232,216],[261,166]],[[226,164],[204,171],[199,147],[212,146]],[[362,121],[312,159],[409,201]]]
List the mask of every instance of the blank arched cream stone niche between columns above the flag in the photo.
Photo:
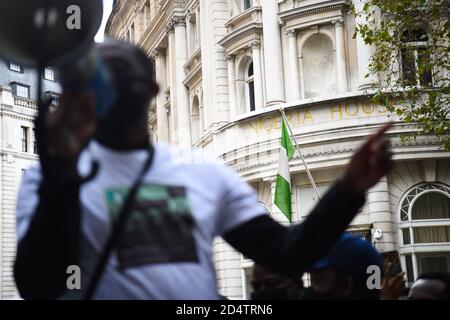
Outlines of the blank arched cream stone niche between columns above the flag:
[[324,34],[310,36],[302,47],[302,70],[305,97],[336,92],[336,68],[333,42]]

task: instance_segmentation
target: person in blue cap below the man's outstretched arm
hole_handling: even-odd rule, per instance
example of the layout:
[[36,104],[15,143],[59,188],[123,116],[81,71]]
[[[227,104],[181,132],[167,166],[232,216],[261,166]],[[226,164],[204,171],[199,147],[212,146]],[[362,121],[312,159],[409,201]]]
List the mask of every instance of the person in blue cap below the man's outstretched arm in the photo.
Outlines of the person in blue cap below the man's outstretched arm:
[[379,289],[369,289],[369,266],[383,270],[383,257],[370,242],[349,233],[310,270],[306,300],[378,300]]

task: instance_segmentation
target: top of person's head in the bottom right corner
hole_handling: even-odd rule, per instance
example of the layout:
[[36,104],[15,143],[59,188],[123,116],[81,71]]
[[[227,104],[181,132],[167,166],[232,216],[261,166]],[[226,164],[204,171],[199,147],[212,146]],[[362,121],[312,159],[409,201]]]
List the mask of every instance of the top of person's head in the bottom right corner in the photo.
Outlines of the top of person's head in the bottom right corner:
[[450,300],[450,273],[422,273],[411,286],[409,300]]

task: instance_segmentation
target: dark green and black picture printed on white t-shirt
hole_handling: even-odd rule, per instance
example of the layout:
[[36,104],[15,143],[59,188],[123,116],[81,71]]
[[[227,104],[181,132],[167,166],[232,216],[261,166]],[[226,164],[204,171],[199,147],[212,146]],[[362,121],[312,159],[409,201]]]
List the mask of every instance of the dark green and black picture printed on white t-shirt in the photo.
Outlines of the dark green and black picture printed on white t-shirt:
[[[128,188],[106,190],[114,222],[127,193]],[[142,185],[116,248],[120,268],[197,262],[193,228],[194,218],[184,187]]]

